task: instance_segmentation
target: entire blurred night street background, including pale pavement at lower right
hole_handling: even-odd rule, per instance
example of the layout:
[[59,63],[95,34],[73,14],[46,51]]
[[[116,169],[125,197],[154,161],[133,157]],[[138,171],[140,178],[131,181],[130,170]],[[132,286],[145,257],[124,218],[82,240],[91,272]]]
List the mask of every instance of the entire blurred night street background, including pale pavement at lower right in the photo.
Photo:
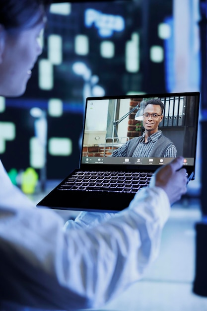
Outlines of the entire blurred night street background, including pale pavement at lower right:
[[[0,158],[13,183],[37,203],[78,166],[87,96],[200,91],[199,2],[54,1],[26,93],[0,97]],[[196,180],[172,207],[159,259],[103,310],[207,310],[207,298],[192,290],[202,218],[200,132]]]

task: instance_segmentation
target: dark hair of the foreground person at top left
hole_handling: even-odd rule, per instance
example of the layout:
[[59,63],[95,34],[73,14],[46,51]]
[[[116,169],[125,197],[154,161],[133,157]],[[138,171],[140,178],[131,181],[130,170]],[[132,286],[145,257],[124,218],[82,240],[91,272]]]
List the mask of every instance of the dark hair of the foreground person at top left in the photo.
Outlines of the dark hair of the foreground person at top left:
[[0,0],[0,24],[5,30],[32,28],[43,20],[50,0]]

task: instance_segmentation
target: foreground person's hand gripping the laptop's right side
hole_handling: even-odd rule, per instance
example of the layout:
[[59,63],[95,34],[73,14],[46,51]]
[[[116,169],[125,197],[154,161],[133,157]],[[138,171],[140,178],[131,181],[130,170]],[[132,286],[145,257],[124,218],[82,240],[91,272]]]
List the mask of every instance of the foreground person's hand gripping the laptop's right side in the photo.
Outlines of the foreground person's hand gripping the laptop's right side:
[[181,168],[183,165],[183,157],[175,158],[171,163],[159,168],[149,186],[157,186],[162,188],[172,205],[178,201],[187,191],[186,169]]

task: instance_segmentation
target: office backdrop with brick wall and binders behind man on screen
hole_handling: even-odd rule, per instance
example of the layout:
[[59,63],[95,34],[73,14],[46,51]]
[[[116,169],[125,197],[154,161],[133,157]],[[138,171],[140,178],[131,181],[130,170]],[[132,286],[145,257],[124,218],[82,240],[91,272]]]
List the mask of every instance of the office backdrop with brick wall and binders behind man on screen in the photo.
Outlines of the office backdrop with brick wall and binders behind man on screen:
[[[136,96],[136,98],[89,100],[82,156],[129,156],[129,154],[117,153],[117,150],[121,150],[127,142],[141,137],[145,130],[144,127],[147,128],[147,123],[149,123],[149,129],[151,124],[157,125],[157,130],[162,131],[162,135],[167,138],[166,141],[172,142],[176,150],[176,154],[161,155],[156,153],[155,156],[175,157],[181,155],[193,158],[196,143],[197,98],[194,96],[156,97],[154,99],[160,100],[164,106],[162,116],[159,115],[160,106],[151,105],[158,110],[150,111],[150,115],[146,113],[145,108],[139,116],[139,120],[136,120],[137,112],[141,110],[142,104],[149,99],[152,100],[152,98]],[[161,150],[161,145],[159,150]],[[136,153],[130,154],[130,156],[144,157],[143,154]]]

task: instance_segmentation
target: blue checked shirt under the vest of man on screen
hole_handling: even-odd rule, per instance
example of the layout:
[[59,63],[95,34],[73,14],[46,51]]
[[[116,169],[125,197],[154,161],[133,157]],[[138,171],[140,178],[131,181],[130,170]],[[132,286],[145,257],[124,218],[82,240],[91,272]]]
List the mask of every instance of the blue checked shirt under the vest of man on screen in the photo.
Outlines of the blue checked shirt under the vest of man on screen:
[[[157,142],[157,140],[160,138],[162,134],[162,131],[158,131],[152,135],[150,135],[147,138],[147,142],[144,142],[145,138],[145,133],[142,134],[142,138],[138,143],[138,146],[136,147],[133,157],[149,157],[154,144]],[[115,150],[111,156],[127,156],[127,145],[129,142],[124,144],[122,147],[119,149]],[[176,157],[177,156],[177,150],[175,145],[169,146],[168,149],[166,150],[164,157]]]

